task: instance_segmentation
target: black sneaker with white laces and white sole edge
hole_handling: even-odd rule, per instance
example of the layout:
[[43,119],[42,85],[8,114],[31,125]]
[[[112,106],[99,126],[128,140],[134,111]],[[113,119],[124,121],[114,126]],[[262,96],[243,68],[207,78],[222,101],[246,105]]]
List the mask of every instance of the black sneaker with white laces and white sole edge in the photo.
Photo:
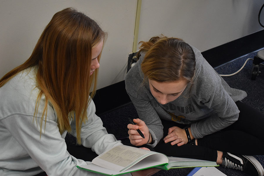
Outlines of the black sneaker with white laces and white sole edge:
[[228,168],[241,170],[249,175],[263,176],[264,170],[262,165],[253,156],[233,155],[223,152],[223,165]]

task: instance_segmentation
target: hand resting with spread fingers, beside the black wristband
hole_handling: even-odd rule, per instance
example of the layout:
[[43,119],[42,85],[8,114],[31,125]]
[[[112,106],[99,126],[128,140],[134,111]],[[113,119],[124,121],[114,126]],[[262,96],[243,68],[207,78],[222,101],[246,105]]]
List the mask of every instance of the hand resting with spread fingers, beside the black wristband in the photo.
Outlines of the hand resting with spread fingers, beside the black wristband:
[[168,135],[163,139],[165,143],[172,141],[170,144],[178,146],[188,143],[188,138],[185,133],[185,129],[173,126],[169,128]]

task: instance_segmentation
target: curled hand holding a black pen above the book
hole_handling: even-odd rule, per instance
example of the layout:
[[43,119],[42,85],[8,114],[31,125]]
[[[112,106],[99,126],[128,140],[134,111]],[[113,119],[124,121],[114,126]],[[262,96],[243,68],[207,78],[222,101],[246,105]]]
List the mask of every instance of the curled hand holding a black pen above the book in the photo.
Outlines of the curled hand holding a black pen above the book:
[[[133,122],[136,123],[136,125],[133,124],[128,124],[127,128],[128,130],[128,134],[129,134],[129,139],[130,139],[130,143],[136,146],[140,146],[140,145],[144,145],[148,142],[148,139],[151,138],[149,130],[147,125],[145,124],[144,121],[140,120],[140,119],[133,119]],[[145,136],[145,139],[142,138],[138,132],[137,129],[139,129],[143,135]]]

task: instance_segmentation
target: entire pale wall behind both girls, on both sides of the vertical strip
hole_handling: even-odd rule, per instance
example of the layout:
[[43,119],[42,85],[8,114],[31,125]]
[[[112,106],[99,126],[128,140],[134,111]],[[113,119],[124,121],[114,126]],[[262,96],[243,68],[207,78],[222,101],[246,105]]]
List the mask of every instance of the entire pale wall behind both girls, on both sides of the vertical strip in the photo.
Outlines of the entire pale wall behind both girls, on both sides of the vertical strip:
[[[132,52],[137,0],[0,0],[0,77],[23,63],[54,13],[74,7],[108,32],[98,89],[122,81]],[[262,0],[142,0],[138,41],[161,33],[201,51],[263,30]]]

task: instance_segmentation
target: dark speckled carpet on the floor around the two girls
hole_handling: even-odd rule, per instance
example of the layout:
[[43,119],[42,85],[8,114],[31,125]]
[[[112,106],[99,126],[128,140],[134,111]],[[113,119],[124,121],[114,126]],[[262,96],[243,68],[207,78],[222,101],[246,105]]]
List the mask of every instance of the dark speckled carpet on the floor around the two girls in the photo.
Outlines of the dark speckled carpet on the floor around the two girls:
[[[231,74],[239,70],[248,57],[253,58],[254,55],[256,55],[256,52],[233,60],[232,62],[216,68],[215,70],[219,74]],[[243,102],[255,107],[264,114],[264,74],[260,73],[260,75],[257,76],[256,80],[253,81],[251,80],[251,70],[252,60],[249,60],[243,70],[241,70],[241,72],[231,77],[224,77],[224,79],[231,87],[246,91],[248,96],[243,100]],[[264,73],[263,65],[261,65],[260,71]],[[127,136],[126,125],[129,123],[128,118],[137,118],[137,113],[133,104],[130,103],[108,113],[105,113],[100,117],[108,133],[114,134],[116,138],[119,139]],[[72,139],[69,136],[66,138],[66,142],[76,143],[75,139]],[[123,140],[123,143],[128,142],[128,139]],[[264,167],[264,155],[258,155],[255,156],[255,158],[257,158]],[[228,176],[248,176],[248,174],[244,172],[228,169],[223,166],[219,166],[216,168],[221,172],[224,172]],[[191,170],[192,168],[171,169],[168,171],[161,170],[155,173],[153,176],[185,176]]]

